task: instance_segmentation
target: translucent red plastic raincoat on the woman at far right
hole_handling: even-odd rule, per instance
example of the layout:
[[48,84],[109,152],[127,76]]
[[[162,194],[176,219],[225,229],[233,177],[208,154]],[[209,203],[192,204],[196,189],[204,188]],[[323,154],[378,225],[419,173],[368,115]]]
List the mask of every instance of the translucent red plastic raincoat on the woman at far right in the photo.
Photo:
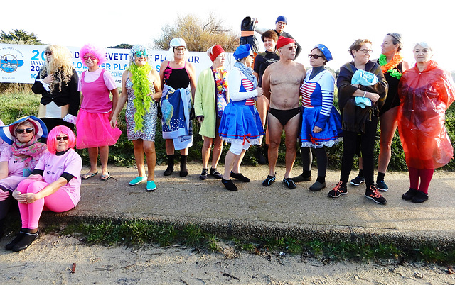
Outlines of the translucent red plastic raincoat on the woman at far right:
[[423,72],[417,66],[408,69],[401,77],[398,94],[398,131],[407,166],[435,169],[449,163],[454,149],[444,123],[455,94],[449,72],[434,61]]

